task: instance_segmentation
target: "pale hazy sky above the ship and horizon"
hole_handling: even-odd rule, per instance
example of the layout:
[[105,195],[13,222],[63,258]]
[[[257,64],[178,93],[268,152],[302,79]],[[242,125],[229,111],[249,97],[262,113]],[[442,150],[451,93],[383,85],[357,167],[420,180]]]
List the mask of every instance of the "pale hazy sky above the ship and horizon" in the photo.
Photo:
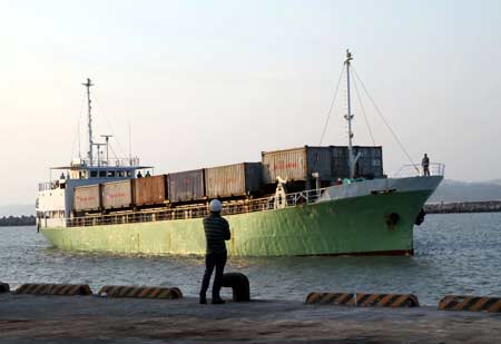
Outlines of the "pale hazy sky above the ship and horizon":
[[[167,173],[317,145],[346,48],[413,159],[501,178],[501,1],[0,0],[0,205],[35,203],[79,122],[87,151],[87,77],[96,137],[127,156],[130,122],[134,154]],[[364,99],[392,175],[409,161]],[[346,144],[343,107],[325,144]]]

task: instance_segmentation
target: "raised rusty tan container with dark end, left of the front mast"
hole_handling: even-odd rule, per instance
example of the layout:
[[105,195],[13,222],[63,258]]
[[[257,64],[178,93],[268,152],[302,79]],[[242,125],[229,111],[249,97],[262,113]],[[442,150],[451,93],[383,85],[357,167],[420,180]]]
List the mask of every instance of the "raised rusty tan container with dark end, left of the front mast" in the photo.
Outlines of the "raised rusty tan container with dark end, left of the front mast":
[[318,173],[322,180],[332,180],[331,147],[301,147],[276,151],[264,151],[263,179],[273,184],[276,177],[287,180],[313,180],[312,174]]

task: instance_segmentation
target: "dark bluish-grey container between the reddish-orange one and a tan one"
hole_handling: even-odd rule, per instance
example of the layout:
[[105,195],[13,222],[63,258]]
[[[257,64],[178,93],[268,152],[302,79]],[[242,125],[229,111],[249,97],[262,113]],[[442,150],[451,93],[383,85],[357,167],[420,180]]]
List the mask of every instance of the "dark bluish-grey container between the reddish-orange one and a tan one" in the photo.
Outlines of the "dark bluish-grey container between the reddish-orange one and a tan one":
[[171,203],[199,200],[205,197],[204,169],[169,174],[168,199]]

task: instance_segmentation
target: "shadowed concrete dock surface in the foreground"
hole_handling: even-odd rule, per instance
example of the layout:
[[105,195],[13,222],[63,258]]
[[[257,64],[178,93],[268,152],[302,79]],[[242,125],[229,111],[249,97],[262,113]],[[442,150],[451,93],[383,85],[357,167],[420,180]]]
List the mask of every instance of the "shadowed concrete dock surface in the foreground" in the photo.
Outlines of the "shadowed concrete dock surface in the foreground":
[[1,343],[493,343],[501,314],[0,294]]

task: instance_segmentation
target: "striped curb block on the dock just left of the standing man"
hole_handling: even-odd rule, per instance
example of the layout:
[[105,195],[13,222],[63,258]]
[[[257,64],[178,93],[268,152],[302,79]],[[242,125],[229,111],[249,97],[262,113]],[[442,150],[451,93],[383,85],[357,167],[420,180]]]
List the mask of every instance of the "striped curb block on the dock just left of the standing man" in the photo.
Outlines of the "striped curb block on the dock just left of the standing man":
[[99,296],[106,297],[137,297],[137,298],[181,298],[179,288],[105,285],[99,289]]

